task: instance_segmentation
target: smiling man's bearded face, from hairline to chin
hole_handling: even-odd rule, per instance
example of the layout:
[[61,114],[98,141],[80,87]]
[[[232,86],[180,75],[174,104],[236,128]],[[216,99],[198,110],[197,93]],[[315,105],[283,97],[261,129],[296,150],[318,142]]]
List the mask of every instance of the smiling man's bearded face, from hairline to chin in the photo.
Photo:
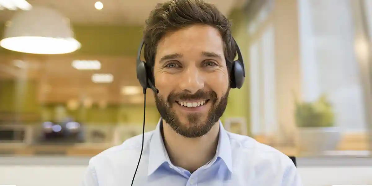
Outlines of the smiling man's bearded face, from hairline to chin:
[[218,30],[195,25],[167,33],[157,45],[155,101],[161,117],[184,137],[209,132],[227,106],[229,76]]

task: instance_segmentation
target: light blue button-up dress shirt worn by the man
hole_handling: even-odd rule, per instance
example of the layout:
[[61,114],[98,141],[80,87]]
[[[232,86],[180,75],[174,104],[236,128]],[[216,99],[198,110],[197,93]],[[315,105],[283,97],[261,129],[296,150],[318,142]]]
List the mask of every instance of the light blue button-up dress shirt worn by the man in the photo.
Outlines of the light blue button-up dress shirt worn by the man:
[[[220,122],[215,157],[190,173],[174,166],[161,136],[160,120],[144,135],[134,186],[302,186],[292,160],[253,138],[227,132]],[[142,135],[94,156],[84,186],[130,186],[141,152]],[[182,145],[182,144],[180,144]]]

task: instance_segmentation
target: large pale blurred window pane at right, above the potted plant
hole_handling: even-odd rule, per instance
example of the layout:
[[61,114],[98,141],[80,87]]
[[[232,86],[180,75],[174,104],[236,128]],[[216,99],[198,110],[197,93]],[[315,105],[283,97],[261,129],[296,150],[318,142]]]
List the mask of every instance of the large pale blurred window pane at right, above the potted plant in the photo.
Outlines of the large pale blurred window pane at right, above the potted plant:
[[325,94],[336,125],[344,131],[365,131],[350,2],[298,0],[302,98],[314,101]]

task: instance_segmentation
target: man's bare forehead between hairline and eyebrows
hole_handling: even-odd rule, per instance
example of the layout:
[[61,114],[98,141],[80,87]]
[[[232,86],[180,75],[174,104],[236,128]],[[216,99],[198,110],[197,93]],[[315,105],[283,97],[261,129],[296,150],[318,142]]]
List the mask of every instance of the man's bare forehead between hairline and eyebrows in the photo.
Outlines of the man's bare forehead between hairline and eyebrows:
[[214,52],[224,56],[224,42],[219,31],[209,25],[193,25],[167,33],[157,45],[156,60],[164,55],[194,55]]

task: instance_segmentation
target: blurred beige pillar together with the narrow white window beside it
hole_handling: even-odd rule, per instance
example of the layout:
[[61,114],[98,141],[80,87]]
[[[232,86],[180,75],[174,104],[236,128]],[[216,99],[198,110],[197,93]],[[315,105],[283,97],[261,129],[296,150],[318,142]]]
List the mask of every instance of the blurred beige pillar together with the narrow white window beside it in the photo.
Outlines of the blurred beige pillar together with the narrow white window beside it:
[[293,93],[300,96],[301,83],[297,0],[264,2],[248,25],[251,132],[270,136],[278,145],[292,145]]

